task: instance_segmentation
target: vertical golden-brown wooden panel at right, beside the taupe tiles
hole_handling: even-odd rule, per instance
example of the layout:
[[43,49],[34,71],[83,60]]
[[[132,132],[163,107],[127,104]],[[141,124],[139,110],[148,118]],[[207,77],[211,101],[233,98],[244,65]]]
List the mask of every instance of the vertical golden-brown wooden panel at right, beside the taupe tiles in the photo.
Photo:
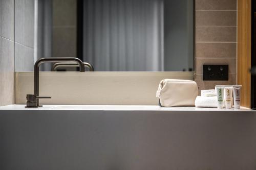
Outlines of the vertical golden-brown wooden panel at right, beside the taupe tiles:
[[242,85],[241,106],[250,108],[251,102],[251,1],[238,0],[238,68],[237,80]]

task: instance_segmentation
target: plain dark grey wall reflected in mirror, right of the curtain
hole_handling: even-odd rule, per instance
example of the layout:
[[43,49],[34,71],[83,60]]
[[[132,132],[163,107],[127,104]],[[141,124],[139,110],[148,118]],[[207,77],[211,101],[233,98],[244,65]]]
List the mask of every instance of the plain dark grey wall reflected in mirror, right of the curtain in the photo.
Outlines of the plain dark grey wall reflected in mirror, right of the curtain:
[[194,70],[194,1],[164,1],[164,70]]

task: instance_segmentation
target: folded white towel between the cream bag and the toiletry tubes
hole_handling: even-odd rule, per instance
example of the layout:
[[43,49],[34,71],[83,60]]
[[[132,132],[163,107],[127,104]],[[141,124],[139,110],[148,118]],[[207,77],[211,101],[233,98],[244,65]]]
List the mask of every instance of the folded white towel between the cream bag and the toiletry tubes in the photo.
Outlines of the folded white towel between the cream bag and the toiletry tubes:
[[217,107],[217,96],[197,96],[196,107]]

